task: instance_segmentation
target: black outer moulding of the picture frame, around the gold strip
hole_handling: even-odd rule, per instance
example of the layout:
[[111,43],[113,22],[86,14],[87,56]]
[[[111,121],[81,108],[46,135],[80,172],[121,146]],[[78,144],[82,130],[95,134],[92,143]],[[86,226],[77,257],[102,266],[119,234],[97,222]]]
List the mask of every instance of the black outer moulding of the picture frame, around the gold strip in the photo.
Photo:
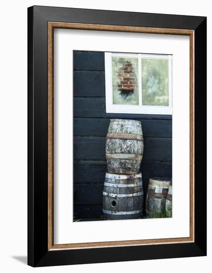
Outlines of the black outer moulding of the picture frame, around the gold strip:
[[[195,30],[195,242],[48,251],[48,21]],[[28,265],[207,255],[207,18],[94,9],[28,8]],[[199,160],[198,160],[199,159]]]

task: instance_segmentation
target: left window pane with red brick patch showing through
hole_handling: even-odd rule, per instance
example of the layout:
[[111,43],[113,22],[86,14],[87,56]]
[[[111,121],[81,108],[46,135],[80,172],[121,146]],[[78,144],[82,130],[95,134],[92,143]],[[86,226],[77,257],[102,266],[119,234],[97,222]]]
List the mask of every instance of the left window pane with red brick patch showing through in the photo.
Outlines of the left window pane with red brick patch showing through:
[[113,104],[138,105],[138,58],[112,57]]

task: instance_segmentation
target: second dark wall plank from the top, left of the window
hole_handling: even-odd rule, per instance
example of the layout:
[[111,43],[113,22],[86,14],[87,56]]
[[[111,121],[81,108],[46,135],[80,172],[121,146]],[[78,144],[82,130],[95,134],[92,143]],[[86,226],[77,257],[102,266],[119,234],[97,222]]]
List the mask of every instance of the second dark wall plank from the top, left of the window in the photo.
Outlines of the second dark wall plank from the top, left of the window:
[[74,96],[105,97],[105,71],[74,71]]

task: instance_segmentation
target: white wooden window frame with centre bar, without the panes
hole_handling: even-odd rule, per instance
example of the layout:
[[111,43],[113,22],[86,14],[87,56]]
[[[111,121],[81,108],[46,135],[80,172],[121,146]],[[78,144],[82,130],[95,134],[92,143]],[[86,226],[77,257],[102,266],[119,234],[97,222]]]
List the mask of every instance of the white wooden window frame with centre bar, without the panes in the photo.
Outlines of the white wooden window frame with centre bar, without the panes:
[[[112,57],[138,57],[139,105],[113,104]],[[141,60],[144,58],[168,60],[168,106],[142,105]],[[105,52],[106,113],[172,115],[172,55]]]

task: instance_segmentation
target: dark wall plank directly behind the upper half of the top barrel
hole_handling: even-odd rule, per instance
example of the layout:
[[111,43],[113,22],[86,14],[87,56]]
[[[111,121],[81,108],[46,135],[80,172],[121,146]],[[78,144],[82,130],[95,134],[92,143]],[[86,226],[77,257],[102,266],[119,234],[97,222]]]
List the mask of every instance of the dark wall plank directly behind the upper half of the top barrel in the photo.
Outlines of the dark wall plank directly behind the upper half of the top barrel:
[[[110,119],[74,118],[74,136],[106,136]],[[171,120],[141,121],[143,136],[171,137]]]

